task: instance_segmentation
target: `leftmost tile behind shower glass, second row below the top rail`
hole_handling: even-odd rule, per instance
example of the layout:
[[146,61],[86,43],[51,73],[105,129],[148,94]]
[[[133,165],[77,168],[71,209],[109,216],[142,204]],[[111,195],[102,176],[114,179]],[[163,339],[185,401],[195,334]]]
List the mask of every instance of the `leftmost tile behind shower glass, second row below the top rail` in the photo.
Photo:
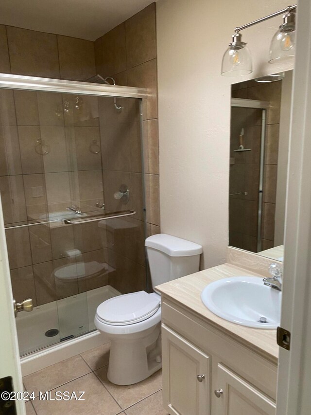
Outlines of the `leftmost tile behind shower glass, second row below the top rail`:
[[0,176],[21,174],[17,126],[0,126]]

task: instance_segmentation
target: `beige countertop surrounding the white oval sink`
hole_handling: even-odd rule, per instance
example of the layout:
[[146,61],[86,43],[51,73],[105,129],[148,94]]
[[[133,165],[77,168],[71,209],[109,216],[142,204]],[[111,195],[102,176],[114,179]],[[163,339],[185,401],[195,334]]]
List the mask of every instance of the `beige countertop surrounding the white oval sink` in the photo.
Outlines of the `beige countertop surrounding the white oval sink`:
[[209,283],[221,278],[243,275],[260,276],[235,265],[223,264],[161,284],[156,287],[156,290],[194,311],[201,318],[206,318],[207,322],[214,326],[218,325],[223,330],[225,329],[237,341],[247,343],[253,348],[259,349],[270,359],[276,360],[279,349],[276,344],[276,330],[251,328],[230,323],[209,311],[201,301],[201,292]]

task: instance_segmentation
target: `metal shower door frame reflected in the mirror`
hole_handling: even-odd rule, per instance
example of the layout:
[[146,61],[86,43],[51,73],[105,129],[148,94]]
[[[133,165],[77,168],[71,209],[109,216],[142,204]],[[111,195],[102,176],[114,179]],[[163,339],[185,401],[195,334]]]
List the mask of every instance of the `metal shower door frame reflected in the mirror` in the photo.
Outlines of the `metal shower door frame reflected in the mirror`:
[[259,189],[258,189],[258,218],[257,218],[257,252],[261,251],[261,223],[263,205],[263,175],[264,150],[266,142],[267,111],[270,107],[268,101],[259,101],[247,98],[231,98],[231,107],[261,109],[261,135],[260,135],[260,162],[259,162]]

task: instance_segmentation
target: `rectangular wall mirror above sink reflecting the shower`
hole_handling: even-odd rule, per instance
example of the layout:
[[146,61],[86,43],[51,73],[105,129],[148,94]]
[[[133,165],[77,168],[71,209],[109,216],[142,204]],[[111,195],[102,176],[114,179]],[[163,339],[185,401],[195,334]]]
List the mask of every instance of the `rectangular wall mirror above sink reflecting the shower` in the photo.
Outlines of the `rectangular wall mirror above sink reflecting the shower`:
[[281,75],[232,85],[229,179],[230,246],[279,261],[292,71]]

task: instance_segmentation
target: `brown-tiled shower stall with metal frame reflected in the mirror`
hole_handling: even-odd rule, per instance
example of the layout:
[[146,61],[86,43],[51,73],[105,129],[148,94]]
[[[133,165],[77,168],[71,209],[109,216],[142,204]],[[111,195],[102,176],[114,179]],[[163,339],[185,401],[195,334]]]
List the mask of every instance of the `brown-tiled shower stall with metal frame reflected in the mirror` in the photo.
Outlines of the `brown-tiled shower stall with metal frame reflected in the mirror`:
[[266,120],[269,102],[231,99],[229,244],[262,251]]

